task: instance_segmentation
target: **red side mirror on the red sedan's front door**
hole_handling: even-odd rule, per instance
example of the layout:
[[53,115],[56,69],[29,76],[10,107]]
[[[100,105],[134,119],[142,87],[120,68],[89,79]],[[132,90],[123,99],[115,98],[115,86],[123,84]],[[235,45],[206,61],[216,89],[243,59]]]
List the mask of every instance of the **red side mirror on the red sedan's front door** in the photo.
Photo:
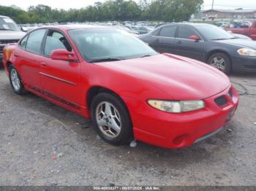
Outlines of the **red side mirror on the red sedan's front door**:
[[50,58],[53,60],[59,61],[69,61],[69,62],[76,62],[78,61],[77,55],[74,52],[69,52],[64,49],[57,49],[53,50],[50,54]]

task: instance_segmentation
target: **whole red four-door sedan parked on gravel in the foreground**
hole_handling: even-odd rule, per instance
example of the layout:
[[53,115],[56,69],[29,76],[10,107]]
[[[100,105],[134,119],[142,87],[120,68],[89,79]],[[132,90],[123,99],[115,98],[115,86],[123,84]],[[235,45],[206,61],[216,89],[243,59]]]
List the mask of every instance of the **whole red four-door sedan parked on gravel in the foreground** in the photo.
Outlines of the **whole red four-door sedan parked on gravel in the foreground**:
[[219,132],[238,106],[221,71],[158,54],[117,28],[53,26],[4,48],[15,93],[29,91],[91,118],[110,144],[178,149]]

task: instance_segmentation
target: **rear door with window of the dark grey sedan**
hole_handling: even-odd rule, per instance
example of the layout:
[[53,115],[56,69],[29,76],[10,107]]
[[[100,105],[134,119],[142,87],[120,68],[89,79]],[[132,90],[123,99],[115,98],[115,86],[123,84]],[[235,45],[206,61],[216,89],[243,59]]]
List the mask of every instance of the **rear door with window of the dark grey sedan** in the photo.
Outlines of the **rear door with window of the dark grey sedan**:
[[152,47],[154,47],[157,52],[169,52],[176,54],[176,44],[175,44],[175,36],[176,36],[177,26],[164,26],[159,29],[159,34],[157,36],[153,36]]

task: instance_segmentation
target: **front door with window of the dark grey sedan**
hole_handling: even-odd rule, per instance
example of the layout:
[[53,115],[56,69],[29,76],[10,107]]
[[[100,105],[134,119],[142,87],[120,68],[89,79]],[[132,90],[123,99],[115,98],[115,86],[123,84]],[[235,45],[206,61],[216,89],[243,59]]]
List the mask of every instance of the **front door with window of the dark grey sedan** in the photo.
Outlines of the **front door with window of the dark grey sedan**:
[[[200,38],[199,41],[189,39],[195,35]],[[178,55],[203,61],[204,41],[202,37],[191,26],[181,25],[178,27],[178,36],[176,39],[176,50]]]

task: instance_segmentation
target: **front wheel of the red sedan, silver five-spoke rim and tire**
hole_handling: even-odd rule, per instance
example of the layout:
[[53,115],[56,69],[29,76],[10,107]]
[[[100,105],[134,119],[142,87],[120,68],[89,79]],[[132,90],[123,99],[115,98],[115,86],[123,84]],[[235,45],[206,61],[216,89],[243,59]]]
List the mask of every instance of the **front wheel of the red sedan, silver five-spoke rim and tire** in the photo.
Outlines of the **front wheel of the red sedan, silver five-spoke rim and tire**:
[[110,144],[127,144],[132,139],[129,112],[116,95],[96,95],[91,103],[91,120],[99,136]]

